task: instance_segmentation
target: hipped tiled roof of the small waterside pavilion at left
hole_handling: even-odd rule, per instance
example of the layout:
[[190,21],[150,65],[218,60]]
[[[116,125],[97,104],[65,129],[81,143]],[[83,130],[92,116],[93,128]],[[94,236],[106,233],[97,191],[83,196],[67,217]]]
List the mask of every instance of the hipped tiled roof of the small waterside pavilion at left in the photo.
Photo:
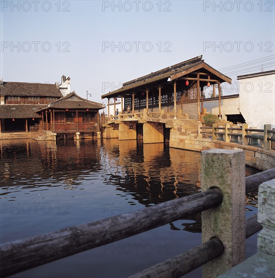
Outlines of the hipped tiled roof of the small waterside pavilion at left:
[[75,92],[71,92],[66,97],[57,100],[55,102],[50,103],[47,107],[40,109],[39,111],[46,110],[49,108],[58,108],[58,109],[103,109],[105,106],[101,103],[88,101],[80,98],[75,94]]

